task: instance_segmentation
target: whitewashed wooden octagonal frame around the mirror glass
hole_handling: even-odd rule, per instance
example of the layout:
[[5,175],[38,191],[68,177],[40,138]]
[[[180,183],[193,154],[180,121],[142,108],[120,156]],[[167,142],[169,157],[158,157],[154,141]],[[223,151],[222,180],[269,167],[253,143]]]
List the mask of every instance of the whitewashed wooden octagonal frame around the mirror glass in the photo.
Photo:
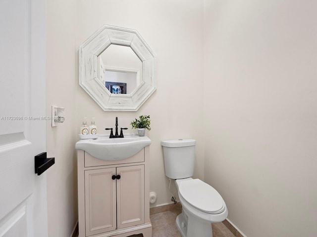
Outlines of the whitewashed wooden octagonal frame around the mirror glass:
[[[131,94],[111,94],[98,79],[97,57],[110,45],[130,46],[143,78]],[[79,84],[104,111],[137,111],[156,90],[156,56],[136,30],[104,25],[79,46]]]

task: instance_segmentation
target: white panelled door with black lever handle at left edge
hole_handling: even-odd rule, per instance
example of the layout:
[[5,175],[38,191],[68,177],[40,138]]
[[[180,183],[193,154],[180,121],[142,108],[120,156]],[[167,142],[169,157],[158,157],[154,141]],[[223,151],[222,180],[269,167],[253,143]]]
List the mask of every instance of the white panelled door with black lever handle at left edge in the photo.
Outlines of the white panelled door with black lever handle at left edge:
[[0,237],[47,237],[45,0],[0,0]]

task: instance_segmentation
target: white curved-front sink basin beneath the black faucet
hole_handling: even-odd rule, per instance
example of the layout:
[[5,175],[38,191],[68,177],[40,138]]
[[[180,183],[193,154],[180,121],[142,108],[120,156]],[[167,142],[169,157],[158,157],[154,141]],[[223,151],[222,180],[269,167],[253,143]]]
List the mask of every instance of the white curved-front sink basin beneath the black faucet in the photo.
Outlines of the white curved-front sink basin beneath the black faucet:
[[120,160],[132,157],[150,144],[151,140],[147,136],[127,134],[123,138],[109,138],[109,135],[100,135],[97,139],[78,141],[75,148],[99,159]]

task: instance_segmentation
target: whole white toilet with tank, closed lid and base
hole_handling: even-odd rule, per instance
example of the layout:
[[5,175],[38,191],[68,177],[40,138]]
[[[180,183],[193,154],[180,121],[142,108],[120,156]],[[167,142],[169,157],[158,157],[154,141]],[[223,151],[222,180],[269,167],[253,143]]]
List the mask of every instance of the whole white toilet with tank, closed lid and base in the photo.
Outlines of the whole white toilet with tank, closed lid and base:
[[195,162],[194,139],[161,141],[165,175],[175,179],[182,213],[176,226],[182,237],[212,237],[211,223],[221,222],[228,209],[220,194],[200,179],[192,179]]

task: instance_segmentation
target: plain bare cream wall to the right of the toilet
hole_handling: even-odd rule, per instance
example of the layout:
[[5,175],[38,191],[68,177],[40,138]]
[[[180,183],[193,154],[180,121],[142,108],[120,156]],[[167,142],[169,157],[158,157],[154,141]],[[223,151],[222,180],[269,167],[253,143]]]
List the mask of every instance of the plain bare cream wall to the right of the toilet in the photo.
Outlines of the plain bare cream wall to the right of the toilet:
[[204,2],[205,180],[246,236],[317,236],[317,2]]

